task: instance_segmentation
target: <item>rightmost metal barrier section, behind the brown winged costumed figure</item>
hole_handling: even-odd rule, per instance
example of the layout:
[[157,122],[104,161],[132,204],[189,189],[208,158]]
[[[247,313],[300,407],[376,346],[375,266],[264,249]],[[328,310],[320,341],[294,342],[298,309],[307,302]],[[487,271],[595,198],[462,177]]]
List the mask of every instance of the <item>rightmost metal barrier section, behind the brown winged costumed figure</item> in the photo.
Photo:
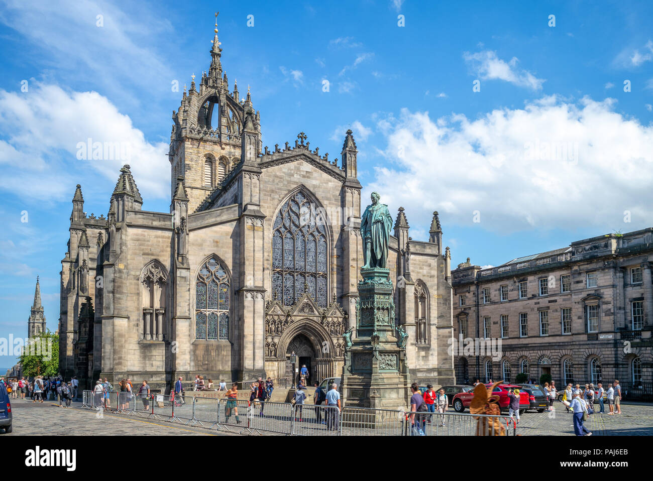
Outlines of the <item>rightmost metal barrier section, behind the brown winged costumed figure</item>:
[[[405,435],[426,436],[497,436],[501,427],[507,436],[517,433],[517,424],[510,416],[466,414],[463,412],[405,412]],[[417,425],[417,430],[414,429]]]

